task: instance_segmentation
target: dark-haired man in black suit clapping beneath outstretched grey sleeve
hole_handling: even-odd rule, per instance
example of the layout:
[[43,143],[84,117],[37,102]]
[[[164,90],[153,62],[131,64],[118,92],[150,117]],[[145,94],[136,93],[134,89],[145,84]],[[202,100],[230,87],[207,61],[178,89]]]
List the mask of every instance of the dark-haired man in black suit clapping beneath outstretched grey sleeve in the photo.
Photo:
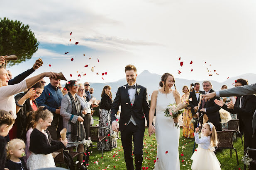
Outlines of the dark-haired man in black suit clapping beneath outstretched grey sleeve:
[[[237,79],[235,86],[247,85],[245,79]],[[229,113],[238,114],[239,117],[239,129],[244,134],[244,150],[249,148],[256,148],[256,136],[253,136],[252,128],[252,116],[256,110],[256,96],[255,95],[244,95],[237,96],[236,102],[233,104],[232,101],[224,104],[223,101],[215,100],[221,108],[227,110]],[[256,160],[256,153],[250,152],[250,158]]]

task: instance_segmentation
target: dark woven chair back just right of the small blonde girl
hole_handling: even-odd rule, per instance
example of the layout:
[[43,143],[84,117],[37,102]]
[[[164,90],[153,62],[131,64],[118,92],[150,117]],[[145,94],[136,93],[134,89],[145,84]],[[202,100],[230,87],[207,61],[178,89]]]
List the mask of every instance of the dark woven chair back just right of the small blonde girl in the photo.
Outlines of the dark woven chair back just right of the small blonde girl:
[[218,148],[233,148],[233,134],[236,131],[217,131],[217,139],[219,141]]

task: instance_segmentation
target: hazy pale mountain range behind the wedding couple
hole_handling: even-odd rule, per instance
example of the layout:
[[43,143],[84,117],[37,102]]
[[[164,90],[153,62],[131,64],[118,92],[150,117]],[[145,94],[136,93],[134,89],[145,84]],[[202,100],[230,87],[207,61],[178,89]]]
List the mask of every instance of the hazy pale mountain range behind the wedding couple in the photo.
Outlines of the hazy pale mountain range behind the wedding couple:
[[[249,84],[253,84],[256,82],[256,74],[253,74],[253,73],[242,74],[237,77],[230,77],[224,82],[218,82],[218,81],[211,81],[211,82],[212,82],[213,89],[219,90],[224,84],[227,85],[228,88],[232,88],[233,87],[232,84],[234,83],[234,80],[239,78],[247,79],[249,81]],[[144,70],[141,74],[137,76],[137,83],[147,88],[148,96],[151,95],[152,92],[159,87],[160,80],[161,80],[161,75],[151,73],[148,70]],[[201,85],[200,90],[203,90],[202,89],[203,81],[179,79],[179,78],[176,78],[175,81],[176,81],[176,89],[180,92],[180,94],[182,94],[182,87],[184,85],[187,85],[188,87],[190,87],[190,84],[195,82],[199,82]],[[127,81],[125,78],[115,82],[109,82],[109,83],[90,83],[91,85],[90,87],[94,88],[93,96],[95,96],[98,100],[100,100],[101,99],[100,95],[102,93],[103,87],[106,85],[111,86],[112,88],[111,91],[112,91],[113,100],[114,100],[117,89],[119,88],[119,86],[123,86],[124,84],[127,84]],[[174,87],[172,89],[174,89]],[[149,100],[150,98],[151,97],[149,96]]]

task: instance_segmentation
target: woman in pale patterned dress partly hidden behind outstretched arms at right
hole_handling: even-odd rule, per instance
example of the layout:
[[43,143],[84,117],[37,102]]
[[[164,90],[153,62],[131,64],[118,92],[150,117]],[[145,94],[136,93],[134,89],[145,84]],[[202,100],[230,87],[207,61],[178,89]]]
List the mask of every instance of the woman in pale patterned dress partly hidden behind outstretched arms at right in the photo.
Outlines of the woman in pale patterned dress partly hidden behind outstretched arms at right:
[[[221,89],[222,90],[224,90],[224,89],[227,89],[227,85],[223,85],[222,87],[221,87]],[[236,102],[236,99],[233,97],[233,96],[231,96],[231,97],[220,97],[220,99],[227,105],[227,103],[229,103],[230,101],[232,101],[233,103],[235,103]],[[221,109],[222,110],[222,109]],[[220,117],[222,118],[221,119],[221,122],[222,122],[222,128],[223,129],[227,129],[228,128],[228,121],[229,120],[226,120],[225,118],[227,117],[227,116],[224,116],[223,114],[222,114],[222,111],[221,110],[219,110],[219,113],[220,113]],[[237,119],[237,115],[236,114],[232,114],[232,113],[229,113],[230,114],[230,116],[231,116],[231,119]]]

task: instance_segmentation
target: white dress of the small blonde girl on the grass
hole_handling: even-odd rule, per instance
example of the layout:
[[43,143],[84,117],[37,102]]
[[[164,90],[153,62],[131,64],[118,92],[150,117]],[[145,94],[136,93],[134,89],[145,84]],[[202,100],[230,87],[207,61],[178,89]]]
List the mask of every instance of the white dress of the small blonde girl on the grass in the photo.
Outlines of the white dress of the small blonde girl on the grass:
[[215,156],[215,148],[210,145],[211,136],[202,136],[199,139],[198,133],[195,133],[195,143],[198,147],[191,156],[193,163],[192,170],[221,170],[220,163]]

